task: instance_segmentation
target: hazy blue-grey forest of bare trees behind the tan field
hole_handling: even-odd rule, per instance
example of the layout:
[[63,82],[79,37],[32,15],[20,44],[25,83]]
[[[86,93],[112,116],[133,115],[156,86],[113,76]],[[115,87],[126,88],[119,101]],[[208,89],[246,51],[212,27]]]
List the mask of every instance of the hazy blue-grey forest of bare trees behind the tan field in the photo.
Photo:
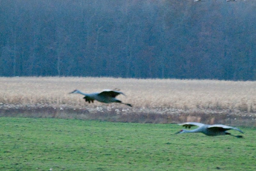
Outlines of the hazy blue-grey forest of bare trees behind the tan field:
[[256,80],[256,1],[0,0],[0,76]]

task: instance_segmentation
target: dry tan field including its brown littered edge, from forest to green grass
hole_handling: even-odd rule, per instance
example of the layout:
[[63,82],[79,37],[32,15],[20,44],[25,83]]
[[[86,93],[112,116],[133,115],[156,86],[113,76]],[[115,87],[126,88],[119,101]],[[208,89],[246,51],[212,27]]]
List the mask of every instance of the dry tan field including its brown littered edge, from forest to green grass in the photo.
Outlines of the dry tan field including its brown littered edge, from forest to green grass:
[[[121,89],[133,107],[68,94]],[[0,77],[1,116],[59,117],[123,122],[198,121],[256,126],[256,82],[93,77]]]

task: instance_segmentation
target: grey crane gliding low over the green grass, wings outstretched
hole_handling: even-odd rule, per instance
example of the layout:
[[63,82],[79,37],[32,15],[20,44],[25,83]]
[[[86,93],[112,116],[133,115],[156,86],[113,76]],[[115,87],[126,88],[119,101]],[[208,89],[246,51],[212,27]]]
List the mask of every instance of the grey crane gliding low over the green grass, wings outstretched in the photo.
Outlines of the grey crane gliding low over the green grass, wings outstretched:
[[[191,128],[193,126],[198,126],[198,128],[193,129],[193,130],[182,129],[179,132],[177,132],[176,134],[201,132],[201,133],[203,133],[207,136],[219,136],[219,135],[234,136],[234,135],[231,135],[230,133],[227,132],[227,130],[229,130],[229,129],[234,129],[234,130],[237,130],[237,131],[243,133],[243,131],[241,131],[238,128],[230,127],[230,126],[227,126],[227,125],[220,125],[220,124],[205,125],[203,123],[197,123],[197,122],[186,122],[186,123],[180,123],[178,125],[182,125],[183,127],[186,127],[186,128]],[[235,136],[235,137],[242,138],[243,136]]]

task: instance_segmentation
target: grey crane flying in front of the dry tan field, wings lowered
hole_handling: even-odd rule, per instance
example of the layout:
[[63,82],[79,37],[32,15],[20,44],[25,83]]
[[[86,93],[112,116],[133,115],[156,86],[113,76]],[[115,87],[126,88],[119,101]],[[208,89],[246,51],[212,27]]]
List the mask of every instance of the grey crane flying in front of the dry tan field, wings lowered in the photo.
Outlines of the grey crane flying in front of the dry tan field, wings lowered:
[[119,94],[122,94],[125,96],[125,94],[122,93],[121,91],[119,91],[119,89],[114,89],[114,90],[104,89],[100,92],[95,92],[95,93],[90,93],[90,94],[83,93],[80,90],[75,89],[74,91],[70,92],[69,94],[72,94],[72,93],[84,95],[84,99],[88,103],[91,103],[91,102],[93,103],[94,100],[97,100],[102,103],[122,103],[124,105],[128,105],[128,106],[132,107],[131,104],[123,103],[121,100],[116,99],[116,96],[118,96]]

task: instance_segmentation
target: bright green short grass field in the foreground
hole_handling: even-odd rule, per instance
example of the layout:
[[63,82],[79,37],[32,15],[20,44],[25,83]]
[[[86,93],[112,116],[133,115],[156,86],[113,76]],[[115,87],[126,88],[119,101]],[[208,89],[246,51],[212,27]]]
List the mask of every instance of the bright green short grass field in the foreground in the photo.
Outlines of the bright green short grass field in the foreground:
[[256,128],[239,127],[239,139],[175,135],[182,129],[176,124],[9,117],[0,123],[0,170],[256,170]]

